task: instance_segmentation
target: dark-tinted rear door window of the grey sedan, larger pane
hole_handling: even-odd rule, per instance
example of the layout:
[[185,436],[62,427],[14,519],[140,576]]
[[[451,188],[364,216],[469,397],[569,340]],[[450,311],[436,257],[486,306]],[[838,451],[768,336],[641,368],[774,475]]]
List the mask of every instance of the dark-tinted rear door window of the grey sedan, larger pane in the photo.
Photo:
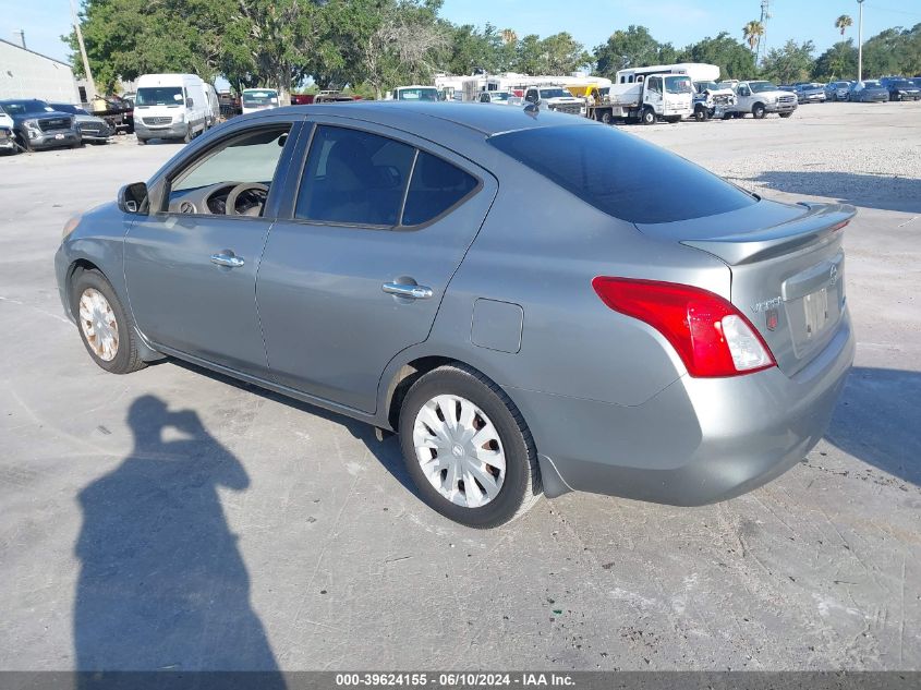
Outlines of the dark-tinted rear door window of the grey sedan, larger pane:
[[396,226],[415,148],[386,136],[319,125],[294,210],[305,220]]

